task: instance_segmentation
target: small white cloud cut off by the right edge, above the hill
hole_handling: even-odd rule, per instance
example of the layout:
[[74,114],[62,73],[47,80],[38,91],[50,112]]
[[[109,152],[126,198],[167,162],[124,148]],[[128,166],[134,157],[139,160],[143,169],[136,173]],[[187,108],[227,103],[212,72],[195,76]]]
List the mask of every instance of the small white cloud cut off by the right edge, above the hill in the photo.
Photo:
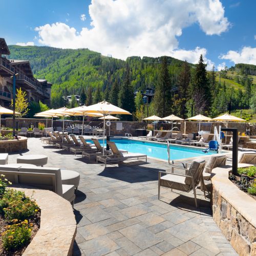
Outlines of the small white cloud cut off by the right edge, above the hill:
[[219,56],[220,59],[229,59],[236,63],[247,63],[256,65],[256,48],[243,47],[241,51],[228,51]]

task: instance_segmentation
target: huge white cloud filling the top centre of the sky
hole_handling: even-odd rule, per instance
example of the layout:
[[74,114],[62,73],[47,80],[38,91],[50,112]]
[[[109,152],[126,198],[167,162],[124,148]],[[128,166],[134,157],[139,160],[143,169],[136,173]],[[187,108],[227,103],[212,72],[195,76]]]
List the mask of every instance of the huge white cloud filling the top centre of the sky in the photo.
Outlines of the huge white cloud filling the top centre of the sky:
[[37,27],[39,43],[89,48],[122,59],[170,55],[197,62],[206,50],[179,49],[183,29],[196,23],[207,35],[220,35],[230,25],[219,0],[92,0],[89,14],[92,28],[81,31],[64,23]]

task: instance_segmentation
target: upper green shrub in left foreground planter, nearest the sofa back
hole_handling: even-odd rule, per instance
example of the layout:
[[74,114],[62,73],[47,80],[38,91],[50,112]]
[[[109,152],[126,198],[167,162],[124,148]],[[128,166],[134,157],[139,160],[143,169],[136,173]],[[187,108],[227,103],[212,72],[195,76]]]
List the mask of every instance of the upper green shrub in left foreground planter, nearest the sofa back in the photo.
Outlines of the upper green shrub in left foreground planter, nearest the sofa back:
[[7,189],[0,200],[0,211],[8,221],[12,219],[24,221],[35,215],[38,210],[37,204],[22,191]]

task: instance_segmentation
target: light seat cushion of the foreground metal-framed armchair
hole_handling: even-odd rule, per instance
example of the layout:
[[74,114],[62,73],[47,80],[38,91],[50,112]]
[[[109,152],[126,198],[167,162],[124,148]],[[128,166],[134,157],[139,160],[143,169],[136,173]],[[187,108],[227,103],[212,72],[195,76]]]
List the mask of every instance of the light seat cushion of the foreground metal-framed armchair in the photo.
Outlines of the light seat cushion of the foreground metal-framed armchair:
[[177,190],[188,191],[189,185],[185,183],[184,176],[167,174],[161,177],[160,184],[164,187],[170,187]]

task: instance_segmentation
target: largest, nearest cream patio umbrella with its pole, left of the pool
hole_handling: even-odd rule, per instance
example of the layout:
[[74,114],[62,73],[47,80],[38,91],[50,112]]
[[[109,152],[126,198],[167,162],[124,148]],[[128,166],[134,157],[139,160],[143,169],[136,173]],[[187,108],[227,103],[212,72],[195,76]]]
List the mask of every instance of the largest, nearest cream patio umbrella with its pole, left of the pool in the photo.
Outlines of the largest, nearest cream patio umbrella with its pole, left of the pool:
[[[105,144],[105,116],[108,115],[132,115],[130,112],[118,108],[118,106],[115,106],[109,102],[106,102],[105,100],[91,105],[87,106],[88,113],[99,113],[103,115],[103,148]],[[103,156],[104,156],[104,151],[103,151]]]

